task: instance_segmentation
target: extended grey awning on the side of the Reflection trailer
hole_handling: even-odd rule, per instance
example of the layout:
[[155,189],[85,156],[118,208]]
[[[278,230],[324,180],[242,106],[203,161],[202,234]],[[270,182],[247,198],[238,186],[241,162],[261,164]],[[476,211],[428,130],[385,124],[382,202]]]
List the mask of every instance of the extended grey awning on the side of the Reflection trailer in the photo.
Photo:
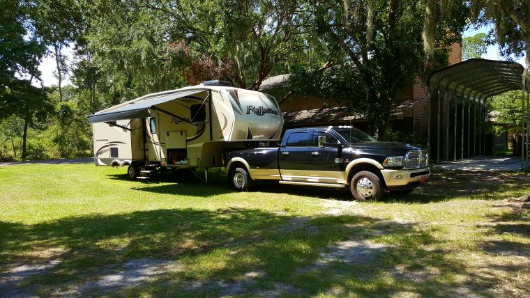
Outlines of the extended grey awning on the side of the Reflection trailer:
[[204,92],[204,90],[184,91],[171,94],[162,94],[155,97],[132,102],[124,107],[112,109],[110,111],[98,112],[89,116],[89,123],[98,123],[106,121],[115,121],[132,118],[143,118],[149,116],[149,109],[157,104],[163,104],[178,98],[188,97],[197,93]]

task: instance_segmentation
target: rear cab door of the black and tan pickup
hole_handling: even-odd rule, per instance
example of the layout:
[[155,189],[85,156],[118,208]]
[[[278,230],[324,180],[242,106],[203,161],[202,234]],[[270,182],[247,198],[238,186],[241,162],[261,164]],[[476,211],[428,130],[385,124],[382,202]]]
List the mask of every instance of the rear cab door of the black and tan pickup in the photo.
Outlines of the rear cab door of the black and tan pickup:
[[309,180],[309,140],[307,131],[291,132],[280,147],[278,165],[283,180]]

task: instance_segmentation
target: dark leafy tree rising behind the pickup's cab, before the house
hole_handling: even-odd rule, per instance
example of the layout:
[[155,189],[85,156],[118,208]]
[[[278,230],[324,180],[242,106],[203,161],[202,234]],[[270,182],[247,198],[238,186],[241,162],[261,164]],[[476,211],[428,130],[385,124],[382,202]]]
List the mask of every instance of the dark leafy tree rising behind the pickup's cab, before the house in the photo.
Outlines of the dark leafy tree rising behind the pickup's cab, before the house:
[[[308,6],[315,35],[328,48],[330,59],[343,65],[333,70],[341,72],[340,80],[322,76],[328,80],[316,85],[324,86],[321,89],[326,93],[329,86],[338,90],[338,82],[349,82],[344,88],[351,87],[339,99],[366,116],[381,140],[386,140],[395,95],[421,75],[427,57],[430,67],[447,63],[448,46],[459,40],[447,31],[460,32],[465,24],[464,17],[450,18],[450,23],[439,19],[436,47],[427,55],[422,34],[425,8],[418,1],[308,1]],[[456,4],[451,7],[464,9]]]

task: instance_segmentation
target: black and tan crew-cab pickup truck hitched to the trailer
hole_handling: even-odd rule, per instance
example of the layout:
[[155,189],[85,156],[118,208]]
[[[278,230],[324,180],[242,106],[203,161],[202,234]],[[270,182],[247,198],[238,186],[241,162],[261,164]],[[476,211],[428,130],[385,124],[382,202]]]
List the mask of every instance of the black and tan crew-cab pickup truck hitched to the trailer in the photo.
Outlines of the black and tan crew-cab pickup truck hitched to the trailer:
[[229,184],[248,191],[256,180],[319,187],[349,187],[358,201],[384,189],[408,194],[430,175],[427,151],[407,143],[376,141],[351,126],[303,127],[281,141],[223,152]]

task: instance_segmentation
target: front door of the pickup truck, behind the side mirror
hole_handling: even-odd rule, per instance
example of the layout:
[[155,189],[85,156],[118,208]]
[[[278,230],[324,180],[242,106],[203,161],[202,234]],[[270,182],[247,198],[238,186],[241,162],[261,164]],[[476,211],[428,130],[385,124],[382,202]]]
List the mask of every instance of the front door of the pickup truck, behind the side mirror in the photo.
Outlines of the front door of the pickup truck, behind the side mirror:
[[[318,137],[326,136],[326,145],[319,148]],[[344,166],[337,159],[338,148],[331,144],[338,143],[338,139],[324,130],[314,130],[309,148],[310,181],[319,183],[343,184]]]

